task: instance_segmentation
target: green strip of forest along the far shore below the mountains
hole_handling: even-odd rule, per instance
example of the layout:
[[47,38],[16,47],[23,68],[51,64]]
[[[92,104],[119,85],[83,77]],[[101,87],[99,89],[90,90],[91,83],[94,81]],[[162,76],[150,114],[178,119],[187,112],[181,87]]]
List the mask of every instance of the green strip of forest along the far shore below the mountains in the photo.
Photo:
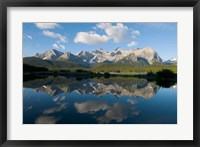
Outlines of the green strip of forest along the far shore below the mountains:
[[170,70],[174,73],[177,72],[176,65],[149,65],[149,66],[132,66],[121,64],[102,64],[91,68],[45,68],[35,67],[24,64],[24,72],[36,72],[36,71],[53,71],[53,72],[93,72],[93,73],[157,73],[162,70]]

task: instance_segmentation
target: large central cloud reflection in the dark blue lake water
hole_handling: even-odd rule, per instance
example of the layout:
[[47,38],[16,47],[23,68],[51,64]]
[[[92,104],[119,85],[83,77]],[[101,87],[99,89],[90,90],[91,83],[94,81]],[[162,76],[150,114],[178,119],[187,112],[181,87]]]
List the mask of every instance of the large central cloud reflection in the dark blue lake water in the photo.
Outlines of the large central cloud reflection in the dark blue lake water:
[[[114,102],[113,104],[108,104],[104,101],[93,101],[88,100],[82,103],[75,103],[74,106],[79,113],[88,113],[95,115],[98,111],[103,111],[104,113],[100,116],[95,116],[98,123],[110,123],[111,121],[122,122],[128,117],[133,115],[138,115],[139,111],[136,110],[135,105],[136,100],[129,100],[131,105],[120,104]],[[95,112],[95,113],[94,113]]]

